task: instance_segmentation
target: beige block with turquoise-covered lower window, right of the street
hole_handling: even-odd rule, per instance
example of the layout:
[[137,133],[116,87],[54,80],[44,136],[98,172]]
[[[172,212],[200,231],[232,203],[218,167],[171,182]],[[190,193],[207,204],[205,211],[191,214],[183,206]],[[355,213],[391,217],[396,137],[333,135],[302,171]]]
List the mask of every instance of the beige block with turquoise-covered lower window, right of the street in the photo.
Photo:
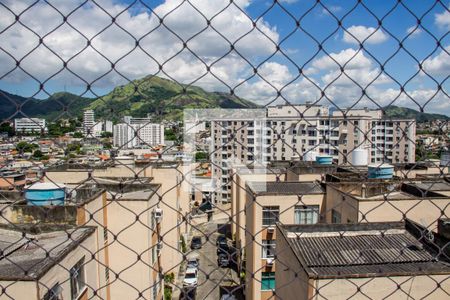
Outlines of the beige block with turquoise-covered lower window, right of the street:
[[241,254],[245,257],[245,296],[270,299],[278,267],[275,224],[319,222],[324,215],[325,189],[316,181],[247,182],[246,189],[246,243]]

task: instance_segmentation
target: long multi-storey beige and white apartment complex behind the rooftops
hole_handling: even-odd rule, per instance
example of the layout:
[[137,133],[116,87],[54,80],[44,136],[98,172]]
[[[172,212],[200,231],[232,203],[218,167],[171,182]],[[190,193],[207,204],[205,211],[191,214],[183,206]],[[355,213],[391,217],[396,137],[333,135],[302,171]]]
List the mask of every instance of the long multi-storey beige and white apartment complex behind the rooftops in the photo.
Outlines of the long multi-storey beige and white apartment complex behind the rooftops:
[[355,149],[367,151],[368,163],[415,162],[416,123],[388,119],[382,110],[330,112],[320,105],[272,106],[265,120],[212,121],[213,177],[216,199],[230,200],[228,161],[249,164],[260,160],[291,160],[306,154],[327,155],[339,164],[350,163]]

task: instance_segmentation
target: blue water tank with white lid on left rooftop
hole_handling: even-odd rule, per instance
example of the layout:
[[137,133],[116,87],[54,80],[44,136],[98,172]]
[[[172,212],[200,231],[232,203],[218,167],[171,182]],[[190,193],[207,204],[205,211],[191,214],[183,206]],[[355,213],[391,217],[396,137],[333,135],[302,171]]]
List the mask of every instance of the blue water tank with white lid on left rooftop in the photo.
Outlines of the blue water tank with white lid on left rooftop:
[[28,205],[64,205],[66,186],[62,183],[37,182],[25,189]]

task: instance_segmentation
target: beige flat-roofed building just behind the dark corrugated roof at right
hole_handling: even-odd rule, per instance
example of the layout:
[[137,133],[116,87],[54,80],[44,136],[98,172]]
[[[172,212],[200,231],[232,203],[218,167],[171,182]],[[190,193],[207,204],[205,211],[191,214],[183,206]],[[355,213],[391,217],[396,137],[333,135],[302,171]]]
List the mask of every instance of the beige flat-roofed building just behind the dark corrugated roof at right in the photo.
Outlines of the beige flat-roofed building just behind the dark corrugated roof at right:
[[[442,191],[415,187],[414,183],[423,187],[422,181],[413,180],[328,182],[326,222],[396,222],[409,218],[435,230],[436,220],[450,216],[450,198]],[[438,183],[441,186],[444,181],[434,181],[436,187]]]

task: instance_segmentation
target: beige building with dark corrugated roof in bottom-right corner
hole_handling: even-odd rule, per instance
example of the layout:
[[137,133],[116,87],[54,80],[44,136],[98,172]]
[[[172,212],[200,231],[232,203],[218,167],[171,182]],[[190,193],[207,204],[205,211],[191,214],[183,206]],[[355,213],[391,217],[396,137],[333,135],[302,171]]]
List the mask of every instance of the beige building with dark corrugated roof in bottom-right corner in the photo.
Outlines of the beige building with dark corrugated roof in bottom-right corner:
[[[277,224],[275,286],[280,299],[445,299],[448,233],[419,224]],[[272,276],[272,275],[271,275]],[[273,278],[273,276],[272,276]]]

